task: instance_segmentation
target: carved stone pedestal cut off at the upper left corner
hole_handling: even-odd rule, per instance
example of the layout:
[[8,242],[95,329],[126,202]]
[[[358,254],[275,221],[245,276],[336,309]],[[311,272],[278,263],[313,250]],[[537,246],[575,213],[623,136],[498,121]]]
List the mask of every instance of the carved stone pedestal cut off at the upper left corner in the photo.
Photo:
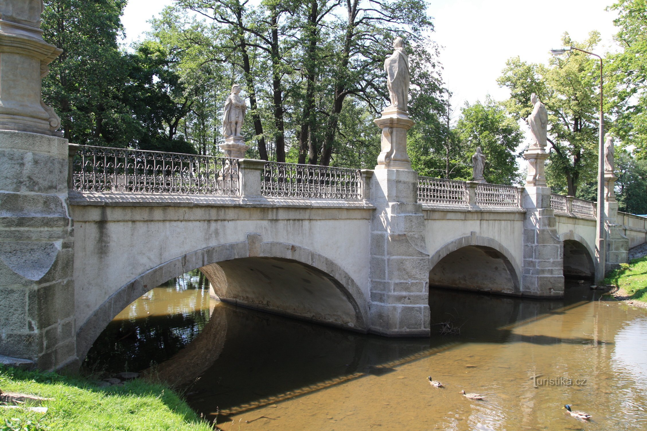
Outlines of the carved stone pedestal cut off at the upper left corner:
[[40,0],[0,6],[0,129],[63,136],[61,121],[41,98],[47,65],[63,52],[43,41]]

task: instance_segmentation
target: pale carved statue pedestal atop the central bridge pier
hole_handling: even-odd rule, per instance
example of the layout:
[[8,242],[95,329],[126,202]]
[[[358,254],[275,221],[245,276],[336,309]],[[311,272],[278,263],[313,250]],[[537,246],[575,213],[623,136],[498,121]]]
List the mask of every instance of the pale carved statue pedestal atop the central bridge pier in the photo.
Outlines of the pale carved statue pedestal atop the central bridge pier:
[[414,121],[409,113],[388,107],[382,116],[373,120],[382,129],[382,152],[377,158],[375,169],[411,169],[411,160],[406,153],[406,132]]

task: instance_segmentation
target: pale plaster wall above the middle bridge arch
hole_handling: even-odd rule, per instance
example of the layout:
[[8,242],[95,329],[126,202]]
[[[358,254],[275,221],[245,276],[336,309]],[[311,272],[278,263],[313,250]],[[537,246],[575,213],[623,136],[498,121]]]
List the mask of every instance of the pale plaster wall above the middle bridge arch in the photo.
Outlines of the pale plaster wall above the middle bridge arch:
[[[445,244],[476,232],[492,238],[510,251],[507,256],[516,268],[523,267],[523,216],[520,211],[439,211],[425,210],[424,224],[430,257]],[[430,268],[431,269],[431,268]],[[517,274],[518,277],[521,274]]]

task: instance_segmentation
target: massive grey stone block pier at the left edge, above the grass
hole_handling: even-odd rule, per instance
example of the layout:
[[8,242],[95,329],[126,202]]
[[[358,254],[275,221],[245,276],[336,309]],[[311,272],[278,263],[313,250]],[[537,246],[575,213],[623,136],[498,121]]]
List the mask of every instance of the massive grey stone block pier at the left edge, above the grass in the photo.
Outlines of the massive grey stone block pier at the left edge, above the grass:
[[0,131],[0,355],[45,370],[78,364],[68,154],[63,138]]

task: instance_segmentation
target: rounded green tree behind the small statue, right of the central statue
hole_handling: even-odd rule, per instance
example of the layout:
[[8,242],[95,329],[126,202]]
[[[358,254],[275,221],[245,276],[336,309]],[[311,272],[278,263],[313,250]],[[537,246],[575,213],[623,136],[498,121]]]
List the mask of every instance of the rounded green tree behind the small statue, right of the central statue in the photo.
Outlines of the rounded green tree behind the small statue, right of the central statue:
[[[490,96],[485,98],[485,103],[466,103],[455,131],[466,156],[471,157],[476,147],[481,147],[486,156],[483,175],[488,183],[512,185],[521,180],[515,151],[523,133],[500,103]],[[471,174],[470,170],[468,175]]]

